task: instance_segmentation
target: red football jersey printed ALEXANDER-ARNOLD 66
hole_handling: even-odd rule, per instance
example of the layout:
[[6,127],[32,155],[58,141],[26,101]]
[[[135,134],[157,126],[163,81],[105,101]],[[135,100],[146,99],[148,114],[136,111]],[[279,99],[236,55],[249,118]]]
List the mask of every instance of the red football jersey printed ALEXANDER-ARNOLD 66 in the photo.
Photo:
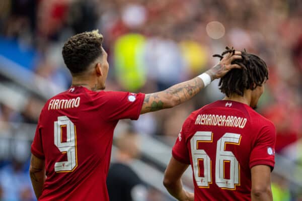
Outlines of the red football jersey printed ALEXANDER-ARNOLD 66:
[[183,124],[173,157],[191,164],[195,200],[251,200],[251,168],[274,167],[274,125],[248,105],[218,100]]

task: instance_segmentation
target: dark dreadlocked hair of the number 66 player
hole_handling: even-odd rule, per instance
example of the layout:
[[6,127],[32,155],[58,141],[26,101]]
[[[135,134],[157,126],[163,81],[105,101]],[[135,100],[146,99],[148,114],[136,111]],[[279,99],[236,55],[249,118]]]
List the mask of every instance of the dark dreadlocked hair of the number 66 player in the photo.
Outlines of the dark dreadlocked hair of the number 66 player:
[[[213,57],[219,57],[221,60],[224,54],[235,54],[233,47],[226,47],[225,49],[221,55],[214,54]],[[254,90],[268,79],[268,68],[261,58],[247,53],[246,50],[241,53],[242,59],[234,60],[232,64],[238,64],[242,68],[230,70],[219,81],[220,91],[228,97],[234,93],[243,96],[245,89]]]

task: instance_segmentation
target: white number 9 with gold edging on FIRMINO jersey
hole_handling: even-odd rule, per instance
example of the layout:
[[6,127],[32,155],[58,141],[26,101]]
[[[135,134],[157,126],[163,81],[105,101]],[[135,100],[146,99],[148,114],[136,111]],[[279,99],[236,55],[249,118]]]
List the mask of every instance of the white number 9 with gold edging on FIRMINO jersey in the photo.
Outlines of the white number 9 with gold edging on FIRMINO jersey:
[[[66,142],[62,142],[63,127],[66,127]],[[56,162],[54,171],[71,172],[77,168],[77,131],[75,125],[66,116],[58,117],[58,121],[54,122],[54,144],[62,154],[67,154],[67,161]]]

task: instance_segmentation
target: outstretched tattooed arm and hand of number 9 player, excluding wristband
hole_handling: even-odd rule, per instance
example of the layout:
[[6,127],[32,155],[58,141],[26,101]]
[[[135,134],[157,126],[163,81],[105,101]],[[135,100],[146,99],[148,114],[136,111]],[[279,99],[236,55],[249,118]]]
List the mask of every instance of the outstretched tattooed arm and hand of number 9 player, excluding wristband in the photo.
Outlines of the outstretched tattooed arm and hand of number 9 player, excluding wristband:
[[[217,65],[207,70],[206,73],[210,75],[211,80],[214,80],[222,77],[233,68],[241,68],[237,64],[231,64],[232,61],[241,59],[240,55],[241,52],[239,51],[236,51],[233,56],[230,53],[226,54]],[[202,88],[204,88],[202,79],[195,77],[191,80],[175,84],[164,91],[146,94],[140,114],[173,108],[191,99]]]

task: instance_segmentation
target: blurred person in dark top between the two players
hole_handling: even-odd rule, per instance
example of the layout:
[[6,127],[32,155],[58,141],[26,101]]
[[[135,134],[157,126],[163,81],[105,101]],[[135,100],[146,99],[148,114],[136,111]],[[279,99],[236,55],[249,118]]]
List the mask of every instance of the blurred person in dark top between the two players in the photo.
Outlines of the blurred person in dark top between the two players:
[[144,201],[146,187],[139,176],[129,167],[131,161],[139,156],[136,133],[122,133],[116,138],[118,150],[116,161],[110,165],[107,177],[109,198],[112,201]]

